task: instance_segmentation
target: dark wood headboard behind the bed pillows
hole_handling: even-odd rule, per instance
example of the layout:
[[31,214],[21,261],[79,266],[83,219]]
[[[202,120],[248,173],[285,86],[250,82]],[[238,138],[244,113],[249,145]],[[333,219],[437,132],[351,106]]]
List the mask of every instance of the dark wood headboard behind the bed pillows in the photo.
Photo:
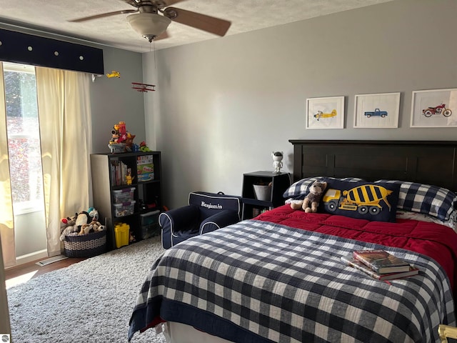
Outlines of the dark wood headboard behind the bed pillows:
[[294,182],[317,176],[361,177],[457,190],[457,141],[289,141]]

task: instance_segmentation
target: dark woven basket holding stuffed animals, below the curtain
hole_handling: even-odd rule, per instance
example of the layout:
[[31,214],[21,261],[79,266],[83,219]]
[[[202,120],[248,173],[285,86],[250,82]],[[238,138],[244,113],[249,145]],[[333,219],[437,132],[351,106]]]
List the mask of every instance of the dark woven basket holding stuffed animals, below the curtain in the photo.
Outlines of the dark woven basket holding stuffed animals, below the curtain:
[[66,236],[64,241],[64,254],[68,257],[93,257],[106,252],[106,230]]

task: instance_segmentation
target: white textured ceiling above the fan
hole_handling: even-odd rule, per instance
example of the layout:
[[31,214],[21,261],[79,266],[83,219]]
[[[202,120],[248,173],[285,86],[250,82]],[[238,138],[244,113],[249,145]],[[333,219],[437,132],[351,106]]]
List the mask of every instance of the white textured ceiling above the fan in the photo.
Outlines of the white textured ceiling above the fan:
[[[388,1],[392,0],[185,0],[174,6],[229,20],[232,24],[226,35],[232,35]],[[67,41],[82,39],[130,51],[146,52],[218,38],[171,22],[167,29],[169,38],[156,41],[153,46],[131,29],[126,21],[127,14],[69,22],[85,16],[134,9],[122,0],[0,0],[0,9],[2,29],[41,36],[49,36],[43,32],[59,34],[60,37],[49,37]],[[76,42],[87,44],[84,41]]]

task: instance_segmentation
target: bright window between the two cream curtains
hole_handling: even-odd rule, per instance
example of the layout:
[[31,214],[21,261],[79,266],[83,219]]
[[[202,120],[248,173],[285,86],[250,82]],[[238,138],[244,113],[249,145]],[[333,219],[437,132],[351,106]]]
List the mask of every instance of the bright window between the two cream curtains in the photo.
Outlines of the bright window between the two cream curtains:
[[4,63],[4,84],[14,212],[42,211],[43,173],[34,67]]

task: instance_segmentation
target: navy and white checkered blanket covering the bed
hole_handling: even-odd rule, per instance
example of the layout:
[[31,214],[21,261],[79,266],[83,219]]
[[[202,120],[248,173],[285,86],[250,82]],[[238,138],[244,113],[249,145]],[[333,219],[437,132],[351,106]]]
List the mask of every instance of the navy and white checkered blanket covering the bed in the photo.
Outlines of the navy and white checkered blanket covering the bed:
[[[342,264],[386,249],[420,273],[380,282]],[[167,250],[141,287],[129,340],[161,317],[233,342],[439,342],[455,325],[448,278],[403,249],[243,221]]]

